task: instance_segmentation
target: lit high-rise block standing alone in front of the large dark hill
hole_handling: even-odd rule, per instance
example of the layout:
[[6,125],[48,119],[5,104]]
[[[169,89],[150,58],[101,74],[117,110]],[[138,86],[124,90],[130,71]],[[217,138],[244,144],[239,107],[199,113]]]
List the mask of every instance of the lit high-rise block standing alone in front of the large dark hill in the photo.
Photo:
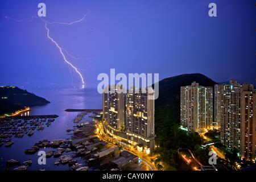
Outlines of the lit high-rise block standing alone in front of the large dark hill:
[[180,88],[180,123],[189,132],[213,127],[213,88],[193,82]]

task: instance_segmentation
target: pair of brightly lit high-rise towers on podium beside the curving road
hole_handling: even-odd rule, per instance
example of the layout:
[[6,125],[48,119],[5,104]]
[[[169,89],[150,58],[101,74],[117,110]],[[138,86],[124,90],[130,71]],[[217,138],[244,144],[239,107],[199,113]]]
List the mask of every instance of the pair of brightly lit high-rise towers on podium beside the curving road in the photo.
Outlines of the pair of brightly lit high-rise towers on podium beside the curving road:
[[148,99],[152,94],[149,90],[146,93],[141,89],[137,91],[132,88],[127,93],[118,93],[115,89],[115,92],[103,93],[103,108],[108,115],[105,128],[149,154],[155,145],[155,102]]

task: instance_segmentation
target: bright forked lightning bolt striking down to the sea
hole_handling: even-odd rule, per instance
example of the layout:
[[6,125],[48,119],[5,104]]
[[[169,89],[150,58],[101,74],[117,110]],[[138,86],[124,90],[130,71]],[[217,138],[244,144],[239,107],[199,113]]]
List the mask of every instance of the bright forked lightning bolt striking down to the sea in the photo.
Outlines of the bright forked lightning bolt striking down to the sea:
[[[88,14],[89,14],[89,13],[88,13]],[[65,50],[64,48],[61,48],[61,47],[59,46],[59,44],[49,35],[49,28],[47,27],[47,25],[48,25],[48,24],[65,24],[65,25],[72,25],[72,24],[74,24],[74,23],[82,22],[82,20],[84,20],[88,14],[84,15],[81,19],[76,20],[76,21],[71,22],[71,23],[64,23],[64,22],[48,22],[47,20],[45,20],[45,19],[43,19],[43,18],[41,18],[41,17],[39,17],[39,16],[32,16],[32,18],[31,18],[30,20],[26,20],[26,19],[20,19],[20,20],[19,20],[19,19],[10,18],[10,17],[7,17],[7,16],[5,16],[5,18],[6,18],[6,22],[9,21],[9,20],[14,20],[14,21],[16,21],[16,22],[24,22],[24,21],[26,21],[26,22],[32,22],[32,20],[34,20],[34,18],[40,18],[40,20],[42,20],[42,22],[44,23],[44,28],[46,28],[46,30],[47,30],[47,38],[48,38],[49,40],[51,40],[51,42],[52,42],[53,44],[55,44],[55,46],[59,49],[60,54],[61,54],[61,56],[63,57],[65,63],[67,63],[68,65],[70,65],[70,66],[75,70],[75,72],[80,76],[81,81],[82,81],[82,88],[84,88],[85,82],[84,82],[84,78],[82,77],[82,74],[81,74],[81,73],[79,72],[79,70],[67,59],[67,57],[65,56],[63,50],[67,53],[67,55],[73,57],[74,59],[76,59],[76,58],[75,58],[74,56],[70,55],[70,54],[67,52],[67,50]]]

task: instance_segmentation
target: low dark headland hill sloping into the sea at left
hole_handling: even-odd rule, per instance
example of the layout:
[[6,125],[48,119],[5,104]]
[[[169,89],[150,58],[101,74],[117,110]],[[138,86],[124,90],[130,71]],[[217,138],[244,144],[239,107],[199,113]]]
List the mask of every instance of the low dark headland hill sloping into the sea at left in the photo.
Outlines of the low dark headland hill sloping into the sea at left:
[[50,102],[16,86],[0,87],[0,114],[13,113],[23,107],[46,105]]

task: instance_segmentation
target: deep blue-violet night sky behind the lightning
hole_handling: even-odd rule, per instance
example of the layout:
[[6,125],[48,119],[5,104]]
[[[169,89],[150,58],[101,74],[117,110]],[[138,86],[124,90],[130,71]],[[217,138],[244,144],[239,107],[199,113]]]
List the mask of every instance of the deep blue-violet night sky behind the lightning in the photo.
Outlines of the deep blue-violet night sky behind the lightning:
[[[160,79],[203,73],[214,81],[230,78],[256,85],[255,1],[1,1],[0,85],[60,86],[80,84],[47,38],[40,19],[31,19],[38,3],[47,6],[50,35],[69,53],[96,87],[99,73],[159,73]],[[217,17],[208,16],[210,2]]]

